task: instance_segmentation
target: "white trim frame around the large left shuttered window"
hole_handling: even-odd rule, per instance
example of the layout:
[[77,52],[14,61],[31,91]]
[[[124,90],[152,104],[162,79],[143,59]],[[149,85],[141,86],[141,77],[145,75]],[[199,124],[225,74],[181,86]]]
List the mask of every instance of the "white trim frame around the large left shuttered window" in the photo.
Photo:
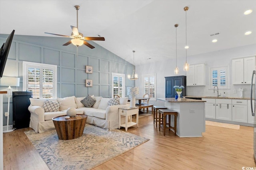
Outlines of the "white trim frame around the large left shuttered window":
[[[57,65],[53,64],[44,64],[44,63],[33,63],[28,61],[22,62],[22,70],[23,70],[23,82],[22,82],[22,90],[27,90],[27,81],[28,81],[28,75],[26,74],[26,70],[28,70],[28,67],[35,67],[40,69],[52,69],[53,70],[53,89],[52,89],[52,98],[57,98]],[[40,75],[41,77],[42,75]],[[40,99],[42,99],[42,92],[40,90]]]

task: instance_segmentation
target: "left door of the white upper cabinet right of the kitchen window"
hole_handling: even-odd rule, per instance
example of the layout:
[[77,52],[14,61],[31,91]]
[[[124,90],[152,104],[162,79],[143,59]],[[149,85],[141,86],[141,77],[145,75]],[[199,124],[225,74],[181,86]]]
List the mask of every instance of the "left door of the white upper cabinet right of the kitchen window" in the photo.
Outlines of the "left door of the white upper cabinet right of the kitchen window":
[[232,60],[232,84],[244,84],[244,59]]

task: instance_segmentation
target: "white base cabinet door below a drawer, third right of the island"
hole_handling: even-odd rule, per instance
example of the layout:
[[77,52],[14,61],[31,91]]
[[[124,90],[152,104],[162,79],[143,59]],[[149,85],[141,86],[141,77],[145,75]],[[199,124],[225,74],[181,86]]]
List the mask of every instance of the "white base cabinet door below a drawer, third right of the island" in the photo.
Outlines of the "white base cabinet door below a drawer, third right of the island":
[[232,105],[232,121],[247,123],[247,105]]

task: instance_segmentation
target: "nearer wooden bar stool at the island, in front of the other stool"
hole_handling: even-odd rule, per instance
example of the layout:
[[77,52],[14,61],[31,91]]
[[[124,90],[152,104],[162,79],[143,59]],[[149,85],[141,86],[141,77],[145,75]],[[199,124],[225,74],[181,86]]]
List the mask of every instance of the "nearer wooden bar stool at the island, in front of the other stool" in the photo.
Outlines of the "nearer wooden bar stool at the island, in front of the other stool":
[[[168,122],[168,127],[167,129],[173,129],[174,130],[174,134],[176,135],[177,132],[177,111],[171,110],[171,109],[159,109],[159,117],[158,117],[158,122],[159,122],[159,131],[161,128],[164,129],[164,136],[165,136],[165,129],[166,129],[166,115],[169,115],[169,122]],[[162,115],[162,116],[161,116]],[[170,115],[174,115],[174,127],[171,126],[171,116]],[[163,127],[161,127],[161,117],[163,119]]]

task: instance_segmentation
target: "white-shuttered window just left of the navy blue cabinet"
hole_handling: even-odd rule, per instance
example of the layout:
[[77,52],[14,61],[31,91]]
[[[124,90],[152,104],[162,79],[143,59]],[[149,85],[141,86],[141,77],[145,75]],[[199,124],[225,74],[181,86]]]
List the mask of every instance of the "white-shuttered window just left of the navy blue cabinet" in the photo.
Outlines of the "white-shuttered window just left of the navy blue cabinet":
[[143,95],[149,94],[150,100],[156,100],[156,74],[142,75]]

